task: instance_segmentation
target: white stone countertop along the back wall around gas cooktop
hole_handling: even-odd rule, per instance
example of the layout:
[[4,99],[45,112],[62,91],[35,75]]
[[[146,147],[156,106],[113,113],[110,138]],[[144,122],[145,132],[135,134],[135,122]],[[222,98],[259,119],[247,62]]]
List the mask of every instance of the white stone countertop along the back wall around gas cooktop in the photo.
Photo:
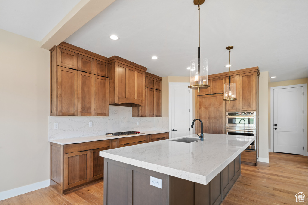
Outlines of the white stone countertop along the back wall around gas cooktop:
[[169,131],[144,131],[140,133],[144,134],[137,134],[137,135],[126,135],[126,136],[111,136],[111,135],[98,135],[98,136],[88,136],[88,137],[75,137],[75,138],[65,138],[65,139],[50,139],[49,142],[53,142],[56,144],[75,144],[75,143],[82,143],[82,142],[92,142],[92,141],[99,141],[99,140],[110,140],[110,139],[117,139],[123,137],[132,137],[132,136],[141,136],[141,135],[152,135],[158,133],[164,133]]

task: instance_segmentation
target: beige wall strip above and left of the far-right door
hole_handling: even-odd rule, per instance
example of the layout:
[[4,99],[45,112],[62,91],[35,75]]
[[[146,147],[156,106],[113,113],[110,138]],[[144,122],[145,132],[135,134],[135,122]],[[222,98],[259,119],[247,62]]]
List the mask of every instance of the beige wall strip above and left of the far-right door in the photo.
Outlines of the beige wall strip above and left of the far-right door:
[[[271,87],[278,87],[278,86],[286,86],[286,85],[299,85],[299,84],[307,84],[308,87],[308,78],[302,78],[302,79],[297,79],[297,80],[291,80],[291,81],[279,81],[279,82],[270,82],[269,83],[269,89]],[[270,90],[269,90],[269,97],[270,97]],[[308,102],[308,89],[307,89],[307,102]],[[269,107],[270,107],[270,98],[268,101]],[[308,104],[307,104],[307,111],[308,111]],[[270,148],[270,109],[269,109],[269,148]],[[308,127],[308,122],[307,122],[307,127]],[[307,132],[307,131],[306,131]],[[308,147],[308,141],[307,141],[307,147]]]

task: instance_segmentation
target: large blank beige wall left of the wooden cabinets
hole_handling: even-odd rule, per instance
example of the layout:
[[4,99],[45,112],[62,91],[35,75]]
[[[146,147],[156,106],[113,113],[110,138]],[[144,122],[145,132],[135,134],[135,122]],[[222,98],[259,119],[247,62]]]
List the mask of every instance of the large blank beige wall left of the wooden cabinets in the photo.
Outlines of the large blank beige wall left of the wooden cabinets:
[[49,51],[0,30],[0,192],[49,179]]

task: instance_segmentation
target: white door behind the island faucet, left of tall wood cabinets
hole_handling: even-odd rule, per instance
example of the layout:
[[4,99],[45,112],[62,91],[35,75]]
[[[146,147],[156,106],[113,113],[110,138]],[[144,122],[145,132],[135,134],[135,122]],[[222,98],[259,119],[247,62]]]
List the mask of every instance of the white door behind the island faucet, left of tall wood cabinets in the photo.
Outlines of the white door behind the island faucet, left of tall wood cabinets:
[[[188,85],[169,85],[169,116],[171,117],[171,138],[192,134],[192,91]],[[171,112],[170,112],[171,108]],[[190,117],[191,116],[191,117]],[[191,133],[190,133],[191,132]]]

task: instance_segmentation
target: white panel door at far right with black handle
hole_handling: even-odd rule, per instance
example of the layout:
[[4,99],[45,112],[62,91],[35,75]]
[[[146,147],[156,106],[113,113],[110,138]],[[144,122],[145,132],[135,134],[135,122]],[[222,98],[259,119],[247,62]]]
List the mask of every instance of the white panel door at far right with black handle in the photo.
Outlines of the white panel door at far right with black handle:
[[274,152],[303,155],[302,93],[303,87],[274,89]]

